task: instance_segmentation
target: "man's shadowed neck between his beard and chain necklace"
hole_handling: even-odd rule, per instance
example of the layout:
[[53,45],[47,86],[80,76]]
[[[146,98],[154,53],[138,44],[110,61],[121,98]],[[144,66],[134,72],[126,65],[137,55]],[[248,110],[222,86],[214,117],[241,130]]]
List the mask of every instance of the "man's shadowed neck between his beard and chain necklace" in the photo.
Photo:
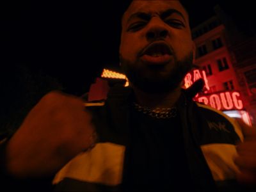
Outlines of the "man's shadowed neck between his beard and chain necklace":
[[147,108],[172,108],[181,94],[178,87],[168,93],[145,93],[136,87],[132,87],[138,104]]

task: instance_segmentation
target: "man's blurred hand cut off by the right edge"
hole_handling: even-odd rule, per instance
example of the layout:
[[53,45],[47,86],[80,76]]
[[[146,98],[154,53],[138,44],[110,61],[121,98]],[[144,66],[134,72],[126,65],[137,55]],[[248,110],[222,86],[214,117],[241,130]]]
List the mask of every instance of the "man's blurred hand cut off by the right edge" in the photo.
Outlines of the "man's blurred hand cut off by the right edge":
[[256,186],[256,129],[239,122],[241,125],[244,141],[237,145],[238,157],[235,163],[239,167],[237,180],[241,184]]

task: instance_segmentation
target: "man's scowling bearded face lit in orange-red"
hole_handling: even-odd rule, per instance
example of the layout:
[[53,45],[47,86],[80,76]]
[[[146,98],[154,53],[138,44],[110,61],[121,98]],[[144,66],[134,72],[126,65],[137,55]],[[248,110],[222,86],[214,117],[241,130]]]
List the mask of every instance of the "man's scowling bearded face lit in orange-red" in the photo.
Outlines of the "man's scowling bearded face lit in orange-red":
[[179,1],[132,1],[122,20],[120,60],[144,92],[179,86],[193,60],[188,14]]

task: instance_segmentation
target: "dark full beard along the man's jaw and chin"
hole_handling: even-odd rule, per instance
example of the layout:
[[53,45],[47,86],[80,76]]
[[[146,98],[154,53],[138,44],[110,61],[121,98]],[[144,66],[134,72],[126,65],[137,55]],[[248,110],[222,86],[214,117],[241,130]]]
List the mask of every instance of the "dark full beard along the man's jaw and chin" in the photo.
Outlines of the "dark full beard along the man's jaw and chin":
[[136,86],[136,88],[145,93],[170,93],[180,86],[186,74],[193,67],[193,52],[190,52],[188,56],[180,61],[177,60],[174,54],[173,58],[172,70],[164,76],[161,76],[160,72],[152,72],[150,75],[145,75],[145,68],[140,67],[140,61],[132,63],[122,58],[122,56],[120,60],[122,70],[124,70],[132,86]]

